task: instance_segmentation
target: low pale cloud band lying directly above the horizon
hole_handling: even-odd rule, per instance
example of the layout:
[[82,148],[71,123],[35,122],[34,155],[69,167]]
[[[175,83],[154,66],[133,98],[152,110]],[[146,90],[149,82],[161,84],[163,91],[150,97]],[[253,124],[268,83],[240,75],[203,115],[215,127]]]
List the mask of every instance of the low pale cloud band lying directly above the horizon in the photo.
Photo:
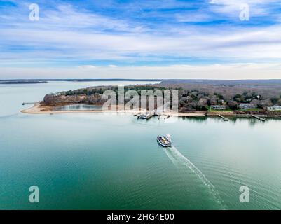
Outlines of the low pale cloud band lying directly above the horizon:
[[2,78],[182,78],[182,79],[281,79],[280,63],[210,64],[194,66],[128,66],[110,68],[99,66],[80,68],[0,68]]

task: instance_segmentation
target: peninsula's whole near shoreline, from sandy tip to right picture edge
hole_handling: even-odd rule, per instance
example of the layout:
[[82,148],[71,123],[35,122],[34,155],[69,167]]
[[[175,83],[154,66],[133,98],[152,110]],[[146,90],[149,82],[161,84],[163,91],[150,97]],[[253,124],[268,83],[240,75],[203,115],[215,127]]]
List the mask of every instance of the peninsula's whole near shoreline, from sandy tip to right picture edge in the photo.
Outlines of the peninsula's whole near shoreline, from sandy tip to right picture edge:
[[[111,110],[76,110],[76,111],[52,111],[52,106],[41,106],[40,103],[34,104],[34,106],[27,109],[23,109],[20,112],[26,114],[61,114],[61,113],[130,113],[132,115],[137,115],[137,113],[146,113],[146,111],[134,111],[134,110],[122,110],[122,111],[111,111]],[[174,116],[174,117],[217,117],[219,115],[225,117],[238,117],[238,118],[249,118],[252,117],[252,114],[238,114],[233,113],[233,111],[195,111],[193,113],[174,113],[163,112],[163,116]],[[281,116],[269,116],[267,114],[259,114],[258,116],[262,118],[281,118]]]

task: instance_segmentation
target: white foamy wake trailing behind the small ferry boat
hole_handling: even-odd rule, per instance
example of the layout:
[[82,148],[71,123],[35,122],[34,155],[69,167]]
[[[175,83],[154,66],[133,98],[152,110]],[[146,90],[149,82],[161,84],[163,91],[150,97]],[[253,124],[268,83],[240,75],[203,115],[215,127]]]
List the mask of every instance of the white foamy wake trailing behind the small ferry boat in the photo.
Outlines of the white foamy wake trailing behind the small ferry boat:
[[207,186],[210,194],[214,197],[214,200],[216,200],[221,209],[226,209],[224,201],[219,196],[216,188],[214,188],[214,185],[212,185],[212,183],[206,178],[206,176],[200,171],[200,169],[193,165],[193,163],[184,155],[182,155],[174,146],[165,148],[164,151],[167,154],[168,158],[170,158],[174,166],[179,167],[179,165],[183,165],[184,167],[188,167],[189,169],[191,169],[191,171],[196,174],[196,176],[198,176],[198,178],[204,183],[204,185]]

